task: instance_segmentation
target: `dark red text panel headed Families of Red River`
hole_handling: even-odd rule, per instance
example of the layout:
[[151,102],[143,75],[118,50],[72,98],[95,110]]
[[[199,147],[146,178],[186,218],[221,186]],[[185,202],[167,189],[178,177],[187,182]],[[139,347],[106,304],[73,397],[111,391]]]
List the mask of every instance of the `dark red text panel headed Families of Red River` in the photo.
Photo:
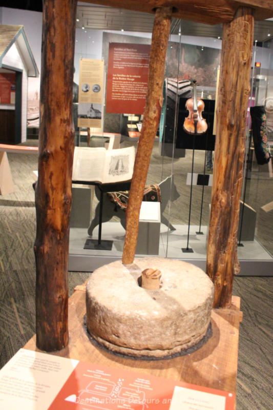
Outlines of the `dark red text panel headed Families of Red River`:
[[150,47],[146,44],[109,44],[107,113],[143,114]]

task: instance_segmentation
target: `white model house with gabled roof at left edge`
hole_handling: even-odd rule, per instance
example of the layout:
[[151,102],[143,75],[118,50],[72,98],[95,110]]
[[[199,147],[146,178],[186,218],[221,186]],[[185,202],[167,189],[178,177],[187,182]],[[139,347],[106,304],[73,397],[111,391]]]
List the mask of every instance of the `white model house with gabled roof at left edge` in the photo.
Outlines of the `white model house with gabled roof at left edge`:
[[38,75],[24,27],[0,25],[1,143],[26,141],[28,77]]

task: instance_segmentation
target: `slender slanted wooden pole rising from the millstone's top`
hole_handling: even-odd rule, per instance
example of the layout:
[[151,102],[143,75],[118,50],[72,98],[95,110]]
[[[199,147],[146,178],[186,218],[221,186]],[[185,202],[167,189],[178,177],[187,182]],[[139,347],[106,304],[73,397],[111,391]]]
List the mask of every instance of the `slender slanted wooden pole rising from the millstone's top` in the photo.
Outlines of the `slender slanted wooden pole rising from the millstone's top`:
[[171,17],[172,7],[161,7],[156,10],[149,61],[148,91],[126,213],[126,234],[122,254],[124,264],[132,263],[135,257],[140,207],[163,104],[165,57]]

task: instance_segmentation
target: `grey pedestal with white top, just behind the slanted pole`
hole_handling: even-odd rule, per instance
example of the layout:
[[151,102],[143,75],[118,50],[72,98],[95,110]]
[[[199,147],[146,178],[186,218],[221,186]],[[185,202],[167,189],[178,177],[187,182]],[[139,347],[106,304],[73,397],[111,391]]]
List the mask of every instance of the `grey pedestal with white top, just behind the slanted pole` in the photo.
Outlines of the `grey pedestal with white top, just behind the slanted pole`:
[[158,255],[160,237],[160,202],[142,202],[136,254]]

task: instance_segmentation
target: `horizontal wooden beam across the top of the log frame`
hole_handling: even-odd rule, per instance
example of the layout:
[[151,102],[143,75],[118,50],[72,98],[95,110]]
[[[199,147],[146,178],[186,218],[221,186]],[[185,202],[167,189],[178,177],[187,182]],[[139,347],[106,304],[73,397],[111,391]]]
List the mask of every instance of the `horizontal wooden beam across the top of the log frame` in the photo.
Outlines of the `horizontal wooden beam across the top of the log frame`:
[[273,17],[271,0],[87,0],[86,3],[154,13],[157,7],[173,7],[173,17],[209,25],[230,22],[240,6],[251,7],[257,20]]

